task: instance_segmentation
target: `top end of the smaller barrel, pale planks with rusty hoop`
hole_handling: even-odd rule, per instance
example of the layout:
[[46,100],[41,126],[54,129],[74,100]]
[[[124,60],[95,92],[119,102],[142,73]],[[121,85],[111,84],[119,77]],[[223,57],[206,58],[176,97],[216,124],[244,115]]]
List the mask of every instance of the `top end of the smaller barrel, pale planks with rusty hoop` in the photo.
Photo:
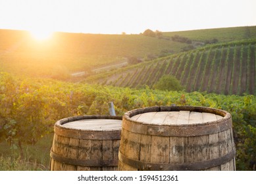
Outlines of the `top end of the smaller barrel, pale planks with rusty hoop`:
[[55,123],[56,135],[75,139],[120,139],[122,116],[86,115],[64,118]]

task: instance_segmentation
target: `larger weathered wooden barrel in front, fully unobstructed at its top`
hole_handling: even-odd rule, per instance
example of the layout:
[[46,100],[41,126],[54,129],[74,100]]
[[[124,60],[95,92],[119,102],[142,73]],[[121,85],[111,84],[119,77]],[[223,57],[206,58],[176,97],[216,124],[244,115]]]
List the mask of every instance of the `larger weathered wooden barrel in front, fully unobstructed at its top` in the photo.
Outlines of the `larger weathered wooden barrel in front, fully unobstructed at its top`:
[[118,170],[236,170],[230,113],[200,106],[126,112]]

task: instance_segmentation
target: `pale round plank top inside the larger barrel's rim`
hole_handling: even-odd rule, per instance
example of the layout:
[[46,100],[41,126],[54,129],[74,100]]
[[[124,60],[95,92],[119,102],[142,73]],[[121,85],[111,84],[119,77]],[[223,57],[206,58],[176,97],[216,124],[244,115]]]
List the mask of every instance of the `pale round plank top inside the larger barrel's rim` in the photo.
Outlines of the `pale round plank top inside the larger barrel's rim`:
[[145,124],[156,125],[186,125],[186,124],[202,124],[206,122],[214,122],[223,118],[217,114],[208,112],[193,112],[188,110],[180,111],[164,111],[164,112],[146,112],[132,116],[132,120],[136,120]]

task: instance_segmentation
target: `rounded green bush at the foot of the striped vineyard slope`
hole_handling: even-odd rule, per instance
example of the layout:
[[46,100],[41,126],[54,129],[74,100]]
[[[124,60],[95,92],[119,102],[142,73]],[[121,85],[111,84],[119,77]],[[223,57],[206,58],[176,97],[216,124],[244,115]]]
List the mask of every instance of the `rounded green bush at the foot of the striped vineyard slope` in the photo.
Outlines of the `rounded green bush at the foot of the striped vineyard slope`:
[[153,85],[154,89],[166,90],[166,91],[182,91],[184,87],[180,84],[174,76],[165,75],[160,78],[155,85]]

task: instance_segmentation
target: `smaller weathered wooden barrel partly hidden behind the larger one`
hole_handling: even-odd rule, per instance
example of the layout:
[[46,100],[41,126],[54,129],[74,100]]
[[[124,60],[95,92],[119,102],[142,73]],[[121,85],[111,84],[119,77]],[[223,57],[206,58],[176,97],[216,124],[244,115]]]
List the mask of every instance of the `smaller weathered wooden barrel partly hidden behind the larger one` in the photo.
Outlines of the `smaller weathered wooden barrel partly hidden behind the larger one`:
[[50,170],[117,170],[122,116],[74,116],[55,123]]

